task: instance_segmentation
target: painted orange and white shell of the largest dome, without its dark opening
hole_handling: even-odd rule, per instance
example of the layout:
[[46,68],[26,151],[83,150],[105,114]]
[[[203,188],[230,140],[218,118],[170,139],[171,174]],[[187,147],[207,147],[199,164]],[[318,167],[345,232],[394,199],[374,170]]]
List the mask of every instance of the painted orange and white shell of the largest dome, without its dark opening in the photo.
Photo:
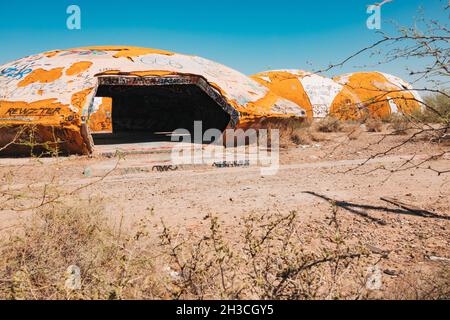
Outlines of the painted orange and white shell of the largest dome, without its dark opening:
[[[232,127],[259,117],[306,114],[292,101],[219,63],[163,50],[113,46],[55,50],[0,66],[0,125],[33,124],[42,140],[56,134],[68,152],[88,153],[94,97],[101,82],[110,85],[111,81],[116,85],[195,82],[229,114]],[[11,132],[0,134],[5,140],[0,146],[9,136]]]

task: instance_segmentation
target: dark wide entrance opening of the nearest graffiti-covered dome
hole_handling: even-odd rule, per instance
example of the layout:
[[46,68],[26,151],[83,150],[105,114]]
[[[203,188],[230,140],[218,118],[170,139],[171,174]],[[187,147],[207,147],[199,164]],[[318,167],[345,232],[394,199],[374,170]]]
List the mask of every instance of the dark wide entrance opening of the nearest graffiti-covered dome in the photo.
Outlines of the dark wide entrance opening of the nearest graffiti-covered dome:
[[98,98],[110,103],[89,112],[95,144],[170,141],[177,129],[193,135],[195,121],[203,132],[231,121],[225,99],[200,77],[102,77]]

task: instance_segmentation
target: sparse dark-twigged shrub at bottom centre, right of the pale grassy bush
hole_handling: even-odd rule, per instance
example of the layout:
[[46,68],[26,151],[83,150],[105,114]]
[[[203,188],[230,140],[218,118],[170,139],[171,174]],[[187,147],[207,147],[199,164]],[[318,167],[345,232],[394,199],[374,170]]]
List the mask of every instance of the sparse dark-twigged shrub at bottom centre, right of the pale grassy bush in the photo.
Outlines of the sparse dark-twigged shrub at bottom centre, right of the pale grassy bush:
[[[354,290],[344,293],[342,289],[365,252],[333,236],[331,248],[306,250],[296,212],[246,216],[240,223],[238,243],[224,237],[217,218],[206,219],[209,232],[200,237],[180,236],[179,231],[164,228],[161,245],[174,270],[168,286],[173,298],[296,300],[360,294],[358,281],[353,283]],[[353,274],[354,279],[358,277]]]

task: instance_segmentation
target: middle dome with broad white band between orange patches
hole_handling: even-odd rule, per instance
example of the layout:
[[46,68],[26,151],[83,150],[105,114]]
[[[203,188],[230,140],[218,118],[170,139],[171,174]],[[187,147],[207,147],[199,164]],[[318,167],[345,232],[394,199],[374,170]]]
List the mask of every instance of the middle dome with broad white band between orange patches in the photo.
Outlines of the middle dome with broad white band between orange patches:
[[252,78],[274,94],[306,109],[309,118],[329,114],[351,118],[360,100],[352,90],[336,81],[303,70],[276,70],[258,73]]

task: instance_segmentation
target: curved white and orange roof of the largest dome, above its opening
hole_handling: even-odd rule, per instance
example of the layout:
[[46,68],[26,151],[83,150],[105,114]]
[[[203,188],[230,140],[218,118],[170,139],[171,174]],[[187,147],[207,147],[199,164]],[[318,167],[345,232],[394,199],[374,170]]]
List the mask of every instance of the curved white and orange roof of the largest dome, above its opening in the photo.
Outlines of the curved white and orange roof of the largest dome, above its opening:
[[[267,102],[267,88],[219,63],[164,50],[100,46],[54,50],[0,66],[0,118],[5,117],[1,106],[15,103],[58,106],[63,113],[81,118],[88,112],[97,77],[173,75],[204,78],[238,112],[299,117],[304,114],[296,104],[282,98],[258,107],[259,101]],[[15,116],[10,118],[39,118],[33,113]],[[47,120],[54,124],[50,118]]]

